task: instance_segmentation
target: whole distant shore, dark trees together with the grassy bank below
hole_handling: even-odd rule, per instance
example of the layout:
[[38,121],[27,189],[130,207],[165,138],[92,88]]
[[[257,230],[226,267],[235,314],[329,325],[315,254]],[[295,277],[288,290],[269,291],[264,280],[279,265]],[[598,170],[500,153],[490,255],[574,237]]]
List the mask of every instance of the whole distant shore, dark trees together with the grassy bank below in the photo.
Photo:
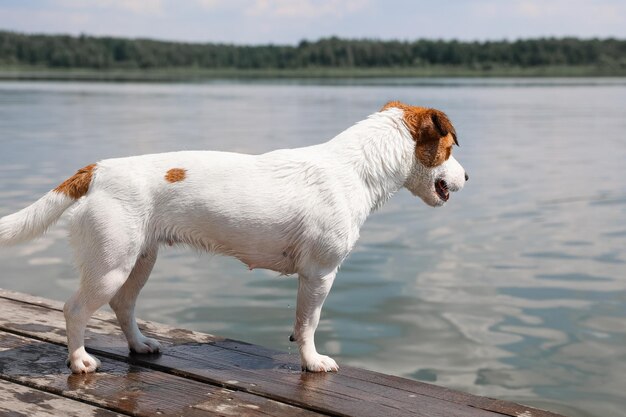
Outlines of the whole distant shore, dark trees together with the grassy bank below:
[[0,30],[0,79],[204,81],[626,76],[626,40],[322,38],[297,45],[185,43]]

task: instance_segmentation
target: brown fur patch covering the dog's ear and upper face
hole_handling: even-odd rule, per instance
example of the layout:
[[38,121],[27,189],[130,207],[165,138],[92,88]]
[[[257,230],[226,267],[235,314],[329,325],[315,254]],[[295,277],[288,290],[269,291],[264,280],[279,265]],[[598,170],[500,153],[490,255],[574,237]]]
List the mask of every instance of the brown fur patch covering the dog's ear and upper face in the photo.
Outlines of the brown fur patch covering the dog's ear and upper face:
[[450,158],[452,145],[458,142],[454,126],[444,112],[399,101],[390,101],[380,111],[392,107],[404,112],[404,124],[415,140],[415,155],[424,166],[433,168]]

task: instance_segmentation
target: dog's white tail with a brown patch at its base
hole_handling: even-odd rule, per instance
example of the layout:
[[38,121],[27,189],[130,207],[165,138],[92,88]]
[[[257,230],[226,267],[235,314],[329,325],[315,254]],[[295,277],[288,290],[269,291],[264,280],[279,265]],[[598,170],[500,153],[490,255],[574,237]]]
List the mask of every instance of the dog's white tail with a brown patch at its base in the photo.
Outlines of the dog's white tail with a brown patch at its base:
[[96,165],[78,170],[54,190],[17,213],[0,218],[0,246],[41,236],[79,198],[87,194]]

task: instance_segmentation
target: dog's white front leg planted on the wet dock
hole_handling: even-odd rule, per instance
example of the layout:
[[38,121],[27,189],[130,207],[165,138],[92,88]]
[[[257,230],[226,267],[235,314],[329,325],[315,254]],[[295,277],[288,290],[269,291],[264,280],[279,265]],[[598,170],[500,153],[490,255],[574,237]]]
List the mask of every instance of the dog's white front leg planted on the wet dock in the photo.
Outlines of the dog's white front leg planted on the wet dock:
[[335,270],[323,277],[309,278],[301,274],[298,277],[296,323],[291,340],[298,342],[303,371],[339,370],[337,363],[331,357],[320,355],[315,349],[315,329],[317,329],[322,305],[333,285],[336,273]]

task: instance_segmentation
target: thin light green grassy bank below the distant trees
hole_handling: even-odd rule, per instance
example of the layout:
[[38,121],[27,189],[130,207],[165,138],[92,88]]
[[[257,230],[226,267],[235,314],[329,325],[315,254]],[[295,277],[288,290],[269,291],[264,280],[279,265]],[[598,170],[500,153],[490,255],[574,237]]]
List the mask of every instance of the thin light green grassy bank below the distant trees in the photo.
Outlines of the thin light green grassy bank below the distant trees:
[[300,69],[206,69],[152,68],[107,69],[0,67],[0,80],[189,82],[217,79],[365,79],[439,77],[623,77],[626,70],[593,66],[462,68],[429,66],[421,68],[300,68]]

